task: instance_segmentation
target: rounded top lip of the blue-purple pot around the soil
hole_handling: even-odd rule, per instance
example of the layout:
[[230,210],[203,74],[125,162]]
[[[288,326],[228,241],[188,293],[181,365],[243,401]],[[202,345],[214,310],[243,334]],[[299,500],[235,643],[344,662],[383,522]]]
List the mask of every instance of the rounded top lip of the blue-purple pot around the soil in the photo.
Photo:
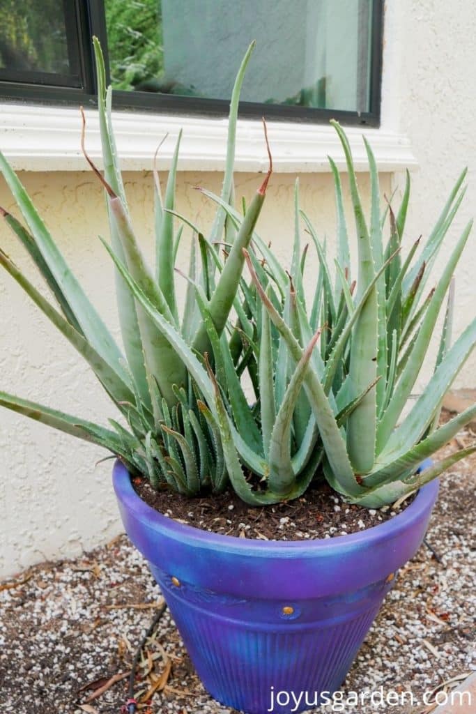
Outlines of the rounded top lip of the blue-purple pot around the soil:
[[[431,463],[429,460],[422,464],[422,468],[427,468]],[[342,553],[343,549],[360,550],[365,545],[368,548],[373,542],[394,539],[400,533],[404,533],[412,528],[418,521],[425,518],[425,513],[432,508],[436,501],[439,482],[438,479],[427,483],[420,488],[416,498],[404,511],[397,513],[388,521],[378,523],[376,526],[365,528],[357,533],[348,535],[335,535],[332,538],[315,538],[307,540],[258,540],[258,538],[238,538],[236,535],[224,535],[205,531],[196,526],[189,526],[185,523],[178,523],[173,518],[163,516],[155,508],[148,506],[146,501],[138,496],[131,483],[131,476],[120,461],[116,461],[113,466],[113,486],[118,501],[133,513],[139,521],[153,530],[161,529],[174,540],[183,542],[187,540],[190,545],[205,548],[221,548],[228,552],[250,553],[254,555],[326,555],[331,557]]]

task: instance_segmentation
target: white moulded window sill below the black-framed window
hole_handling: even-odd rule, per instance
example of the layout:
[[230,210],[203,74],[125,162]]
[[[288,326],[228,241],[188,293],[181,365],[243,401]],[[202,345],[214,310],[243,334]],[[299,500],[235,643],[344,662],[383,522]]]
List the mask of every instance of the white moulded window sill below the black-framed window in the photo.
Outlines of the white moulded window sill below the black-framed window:
[[[101,165],[97,111],[86,110],[86,148]],[[222,171],[226,155],[226,119],[168,116],[138,112],[113,115],[121,169],[150,170],[159,141],[168,133],[158,167],[168,168],[178,131],[183,129],[179,156],[181,171]],[[349,127],[358,171],[367,171],[362,134],[369,139],[380,171],[414,168],[410,141],[395,131]],[[80,148],[81,117],[76,109],[24,104],[0,106],[0,149],[16,170],[86,171]],[[268,136],[275,171],[329,171],[327,156],[345,170],[343,152],[330,126],[269,122]],[[264,171],[268,167],[260,121],[240,120],[237,130],[236,171]]]

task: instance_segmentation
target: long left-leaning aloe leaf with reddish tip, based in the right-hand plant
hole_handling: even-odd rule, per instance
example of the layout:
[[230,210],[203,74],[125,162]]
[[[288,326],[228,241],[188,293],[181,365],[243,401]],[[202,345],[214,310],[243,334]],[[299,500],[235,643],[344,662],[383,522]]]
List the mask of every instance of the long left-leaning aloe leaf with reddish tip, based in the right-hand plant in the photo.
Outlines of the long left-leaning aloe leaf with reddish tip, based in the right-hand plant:
[[[246,262],[260,298],[268,310],[271,321],[273,321],[275,327],[278,329],[278,332],[285,339],[293,360],[298,363],[300,358],[303,356],[303,349],[300,347],[298,341],[295,339],[293,333],[290,331],[290,328],[288,328],[285,321],[283,321],[283,318],[281,318],[278,311],[275,310],[273,304],[268,299],[268,296],[266,296],[265,291],[263,291],[256,273],[253,271],[253,265],[251,264],[248,256],[246,256]],[[305,391],[307,393],[310,406],[313,409],[315,421],[318,424],[320,432],[320,438],[323,441],[323,446],[328,456],[330,466],[333,469],[333,472],[338,475],[336,478],[339,478],[339,480],[347,486],[350,492],[358,493],[360,491],[360,487],[355,481],[353,469],[352,466],[350,466],[350,461],[345,449],[345,442],[340,434],[338,424],[335,421],[333,409],[330,406],[328,398],[325,396],[323,387],[320,384],[319,378],[312,367],[308,368],[305,376]]]

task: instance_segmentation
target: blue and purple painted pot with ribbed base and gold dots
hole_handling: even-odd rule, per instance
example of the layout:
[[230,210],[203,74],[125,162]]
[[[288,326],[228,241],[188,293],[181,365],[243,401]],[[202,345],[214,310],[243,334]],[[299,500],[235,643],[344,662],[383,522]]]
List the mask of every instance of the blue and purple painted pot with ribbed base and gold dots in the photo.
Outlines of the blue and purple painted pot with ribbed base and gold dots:
[[118,462],[113,483],[126,532],[147,558],[203,685],[248,714],[302,711],[340,688],[395,571],[422,543],[438,491],[430,483],[405,511],[360,533],[273,542],[162,516]]

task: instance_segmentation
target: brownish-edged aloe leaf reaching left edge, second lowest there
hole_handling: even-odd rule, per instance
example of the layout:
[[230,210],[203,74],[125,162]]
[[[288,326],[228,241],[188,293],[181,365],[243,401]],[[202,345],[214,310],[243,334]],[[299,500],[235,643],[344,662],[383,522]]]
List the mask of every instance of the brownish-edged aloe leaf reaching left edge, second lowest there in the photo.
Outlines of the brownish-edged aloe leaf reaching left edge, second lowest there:
[[124,382],[121,376],[116,373],[113,366],[109,365],[100,354],[88,343],[81,333],[76,331],[61,313],[44,298],[41,293],[29,282],[29,280],[19,271],[19,268],[0,250],[0,264],[10,273],[12,278],[24,289],[26,294],[36,303],[36,306],[46,315],[56,328],[66,337],[66,339],[76,348],[76,350],[88,362],[97,378],[110,394],[116,404],[121,401],[134,402],[133,392]]

